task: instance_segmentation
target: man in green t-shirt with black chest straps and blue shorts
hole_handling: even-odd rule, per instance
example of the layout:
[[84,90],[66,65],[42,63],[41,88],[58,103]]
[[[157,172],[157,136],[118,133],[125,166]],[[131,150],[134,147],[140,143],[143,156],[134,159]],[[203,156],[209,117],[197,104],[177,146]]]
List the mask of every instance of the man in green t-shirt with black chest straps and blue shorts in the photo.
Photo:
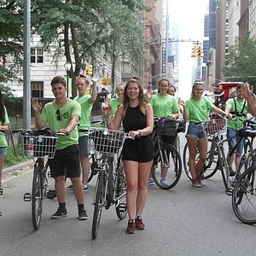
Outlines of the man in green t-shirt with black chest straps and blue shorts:
[[[241,160],[241,154],[243,150],[244,139],[241,139],[241,143],[237,145],[236,152],[230,155],[230,151],[235,148],[236,143],[240,140],[240,136],[237,134],[242,128],[242,121],[247,118],[247,113],[249,112],[247,101],[244,98],[242,84],[237,84],[236,86],[236,97],[231,98],[226,102],[226,113],[232,113],[236,115],[236,119],[228,120],[227,124],[227,137],[229,143],[229,153],[228,153],[228,164],[230,166],[230,176],[235,176],[238,170],[238,166]],[[235,159],[236,172],[232,169],[232,164]]]

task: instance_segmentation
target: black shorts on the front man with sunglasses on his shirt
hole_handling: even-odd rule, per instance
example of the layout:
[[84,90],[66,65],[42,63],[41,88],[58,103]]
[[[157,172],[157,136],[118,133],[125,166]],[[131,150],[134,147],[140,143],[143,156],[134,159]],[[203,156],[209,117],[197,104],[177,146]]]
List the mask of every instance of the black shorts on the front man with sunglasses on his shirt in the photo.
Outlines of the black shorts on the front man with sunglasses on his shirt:
[[67,177],[80,177],[79,145],[55,151],[55,157],[49,159],[49,168],[52,177],[67,175]]

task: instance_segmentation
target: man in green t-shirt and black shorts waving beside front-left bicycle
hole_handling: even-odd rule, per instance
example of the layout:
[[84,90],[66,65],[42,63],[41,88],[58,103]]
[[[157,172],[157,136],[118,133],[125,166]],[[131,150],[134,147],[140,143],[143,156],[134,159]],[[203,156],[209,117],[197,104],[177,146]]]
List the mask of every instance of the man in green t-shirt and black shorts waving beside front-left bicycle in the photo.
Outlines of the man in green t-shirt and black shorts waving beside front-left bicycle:
[[32,109],[38,129],[48,126],[53,131],[67,134],[67,136],[58,138],[55,156],[53,159],[49,159],[49,168],[52,177],[55,178],[55,189],[59,202],[58,210],[51,215],[51,218],[67,216],[65,185],[65,176],[67,176],[73,183],[74,195],[79,208],[79,219],[84,220],[88,217],[84,209],[84,189],[80,179],[79,133],[77,128],[81,107],[79,103],[67,98],[64,78],[56,76],[50,84],[55,101],[45,104],[42,110],[42,104],[38,102],[38,99],[32,99]]

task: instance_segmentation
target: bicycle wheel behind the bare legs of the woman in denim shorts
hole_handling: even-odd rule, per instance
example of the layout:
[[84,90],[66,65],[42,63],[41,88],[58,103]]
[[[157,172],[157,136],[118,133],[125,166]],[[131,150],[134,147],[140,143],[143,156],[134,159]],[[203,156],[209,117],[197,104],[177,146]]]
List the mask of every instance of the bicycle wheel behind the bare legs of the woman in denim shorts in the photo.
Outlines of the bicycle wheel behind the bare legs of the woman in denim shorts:
[[[211,148],[211,145],[212,145],[212,140],[209,140],[208,148]],[[195,162],[197,162],[198,160],[199,160],[199,151],[197,150]],[[187,177],[189,177],[189,179],[192,181],[192,176],[191,176],[191,173],[189,172],[189,146],[188,146],[188,143],[186,143],[183,148],[183,168],[184,168],[184,171],[185,171]],[[218,171],[218,151],[217,151],[217,148],[215,148],[213,154],[211,154],[211,150],[209,150],[207,152],[207,160],[203,167],[201,175],[203,175],[204,178],[210,178],[217,171]]]

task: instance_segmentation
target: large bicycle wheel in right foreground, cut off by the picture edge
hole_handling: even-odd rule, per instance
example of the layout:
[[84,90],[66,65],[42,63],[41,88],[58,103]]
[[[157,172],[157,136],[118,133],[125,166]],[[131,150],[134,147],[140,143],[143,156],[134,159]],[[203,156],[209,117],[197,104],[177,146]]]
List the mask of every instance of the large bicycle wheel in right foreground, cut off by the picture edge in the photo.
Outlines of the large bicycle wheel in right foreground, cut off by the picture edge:
[[244,224],[256,224],[256,169],[243,172],[236,182],[232,195],[232,208]]

